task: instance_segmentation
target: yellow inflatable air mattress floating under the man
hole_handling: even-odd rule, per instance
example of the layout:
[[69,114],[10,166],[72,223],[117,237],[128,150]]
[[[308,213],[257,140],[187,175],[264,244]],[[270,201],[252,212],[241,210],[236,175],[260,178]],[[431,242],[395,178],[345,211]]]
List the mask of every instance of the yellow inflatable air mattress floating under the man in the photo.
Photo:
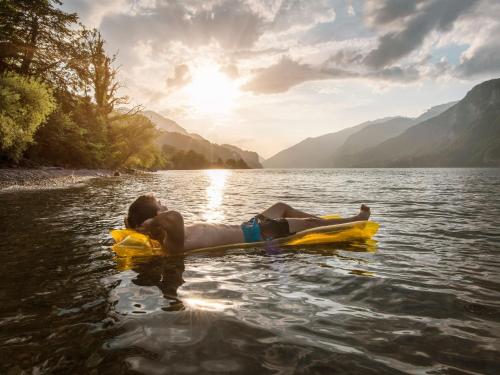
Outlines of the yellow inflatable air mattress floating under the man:
[[[323,218],[338,217],[335,215]],[[346,224],[335,224],[307,229],[287,237],[270,241],[238,243],[216,247],[206,247],[189,250],[187,253],[206,252],[236,248],[252,248],[265,245],[308,246],[328,243],[364,241],[371,239],[377,233],[379,225],[373,221],[355,221]],[[112,249],[119,257],[161,255],[160,243],[148,236],[130,229],[115,229],[111,231],[115,240]]]

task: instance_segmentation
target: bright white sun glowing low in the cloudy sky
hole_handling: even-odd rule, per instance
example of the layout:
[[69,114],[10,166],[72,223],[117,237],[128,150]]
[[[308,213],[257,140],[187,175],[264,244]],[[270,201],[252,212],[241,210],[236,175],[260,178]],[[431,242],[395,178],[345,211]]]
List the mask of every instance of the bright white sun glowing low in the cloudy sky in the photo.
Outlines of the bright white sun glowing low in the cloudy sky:
[[199,112],[227,114],[240,94],[238,83],[222,73],[217,65],[195,69],[185,92],[190,104]]

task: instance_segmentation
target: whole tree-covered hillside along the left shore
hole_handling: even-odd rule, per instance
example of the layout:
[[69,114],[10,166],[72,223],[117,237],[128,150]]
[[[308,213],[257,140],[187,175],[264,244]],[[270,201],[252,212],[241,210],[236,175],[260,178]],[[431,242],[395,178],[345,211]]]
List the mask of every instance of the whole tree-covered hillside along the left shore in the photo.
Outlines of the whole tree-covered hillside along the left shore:
[[[100,32],[58,0],[0,2],[0,164],[73,168],[195,167],[161,149],[154,113],[120,110],[115,64]],[[149,118],[148,118],[149,117]],[[164,119],[169,131],[185,133]],[[184,155],[185,156],[185,155]],[[192,155],[191,155],[192,156]],[[203,167],[247,167],[242,158]],[[217,160],[218,162],[218,160]],[[182,164],[182,165],[181,165]]]

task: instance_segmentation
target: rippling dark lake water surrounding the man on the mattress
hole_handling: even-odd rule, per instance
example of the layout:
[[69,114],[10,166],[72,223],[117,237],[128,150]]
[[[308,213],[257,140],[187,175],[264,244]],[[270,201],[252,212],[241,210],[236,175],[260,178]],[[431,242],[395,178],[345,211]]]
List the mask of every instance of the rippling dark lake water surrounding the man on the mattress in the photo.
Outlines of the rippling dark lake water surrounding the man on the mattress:
[[[142,258],[108,231],[154,192],[186,221],[284,201],[373,245]],[[0,194],[0,373],[499,374],[500,170],[168,171]]]

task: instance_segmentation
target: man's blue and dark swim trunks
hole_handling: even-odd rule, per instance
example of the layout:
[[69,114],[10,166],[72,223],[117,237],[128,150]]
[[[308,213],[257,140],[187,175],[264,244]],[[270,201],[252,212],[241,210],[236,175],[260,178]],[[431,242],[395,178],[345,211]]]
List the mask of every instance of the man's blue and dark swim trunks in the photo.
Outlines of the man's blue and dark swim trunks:
[[264,215],[256,215],[241,224],[245,242],[259,242],[289,236],[290,228],[284,218],[270,219]]

